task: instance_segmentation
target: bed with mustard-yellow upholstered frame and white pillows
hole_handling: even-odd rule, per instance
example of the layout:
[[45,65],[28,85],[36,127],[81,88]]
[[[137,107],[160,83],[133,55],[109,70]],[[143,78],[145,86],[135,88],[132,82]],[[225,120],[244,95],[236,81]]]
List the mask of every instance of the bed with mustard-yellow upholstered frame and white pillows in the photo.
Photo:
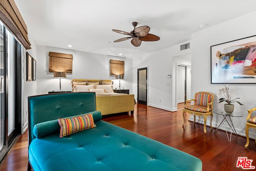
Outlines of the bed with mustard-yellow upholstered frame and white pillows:
[[72,92],[95,92],[96,110],[102,115],[134,112],[134,94],[114,93],[111,80],[71,80]]

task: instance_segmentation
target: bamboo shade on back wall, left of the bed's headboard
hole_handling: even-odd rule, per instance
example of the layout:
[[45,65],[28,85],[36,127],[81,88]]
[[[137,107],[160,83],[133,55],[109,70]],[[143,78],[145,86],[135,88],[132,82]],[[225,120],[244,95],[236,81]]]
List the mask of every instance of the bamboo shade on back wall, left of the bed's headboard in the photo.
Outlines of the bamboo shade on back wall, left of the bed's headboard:
[[72,54],[49,52],[49,72],[72,73]]

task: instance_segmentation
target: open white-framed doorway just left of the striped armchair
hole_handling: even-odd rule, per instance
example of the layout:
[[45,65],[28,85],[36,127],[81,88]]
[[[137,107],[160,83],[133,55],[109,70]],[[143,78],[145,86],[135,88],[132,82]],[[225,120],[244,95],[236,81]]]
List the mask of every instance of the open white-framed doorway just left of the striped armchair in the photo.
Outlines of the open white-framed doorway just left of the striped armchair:
[[177,64],[176,101],[177,110],[184,107],[185,100],[191,99],[191,66]]

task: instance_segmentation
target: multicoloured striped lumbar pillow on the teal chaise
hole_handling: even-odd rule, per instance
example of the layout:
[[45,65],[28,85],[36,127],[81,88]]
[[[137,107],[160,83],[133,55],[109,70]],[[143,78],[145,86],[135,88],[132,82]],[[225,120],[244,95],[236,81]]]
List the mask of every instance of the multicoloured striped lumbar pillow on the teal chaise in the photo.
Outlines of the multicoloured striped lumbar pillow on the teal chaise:
[[58,123],[60,125],[60,137],[65,137],[78,131],[96,127],[92,114],[60,118],[58,119]]

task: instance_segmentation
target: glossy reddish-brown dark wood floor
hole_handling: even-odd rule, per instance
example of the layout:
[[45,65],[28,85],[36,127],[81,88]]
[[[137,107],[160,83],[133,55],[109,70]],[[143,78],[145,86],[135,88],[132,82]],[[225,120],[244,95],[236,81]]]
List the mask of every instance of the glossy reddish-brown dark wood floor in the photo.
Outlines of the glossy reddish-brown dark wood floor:
[[[226,132],[211,130],[203,125],[189,122],[190,115],[186,114],[186,122],[182,127],[182,111],[169,112],[146,105],[136,104],[133,115],[106,115],[104,121],[113,123],[130,131],[170,145],[176,149],[194,155],[202,160],[204,171],[236,171],[238,157],[252,159],[256,166],[256,143],[250,140],[248,149],[245,137],[236,138],[232,135],[229,143]],[[6,160],[0,166],[0,171],[26,171],[28,162],[28,134],[20,137]]]

